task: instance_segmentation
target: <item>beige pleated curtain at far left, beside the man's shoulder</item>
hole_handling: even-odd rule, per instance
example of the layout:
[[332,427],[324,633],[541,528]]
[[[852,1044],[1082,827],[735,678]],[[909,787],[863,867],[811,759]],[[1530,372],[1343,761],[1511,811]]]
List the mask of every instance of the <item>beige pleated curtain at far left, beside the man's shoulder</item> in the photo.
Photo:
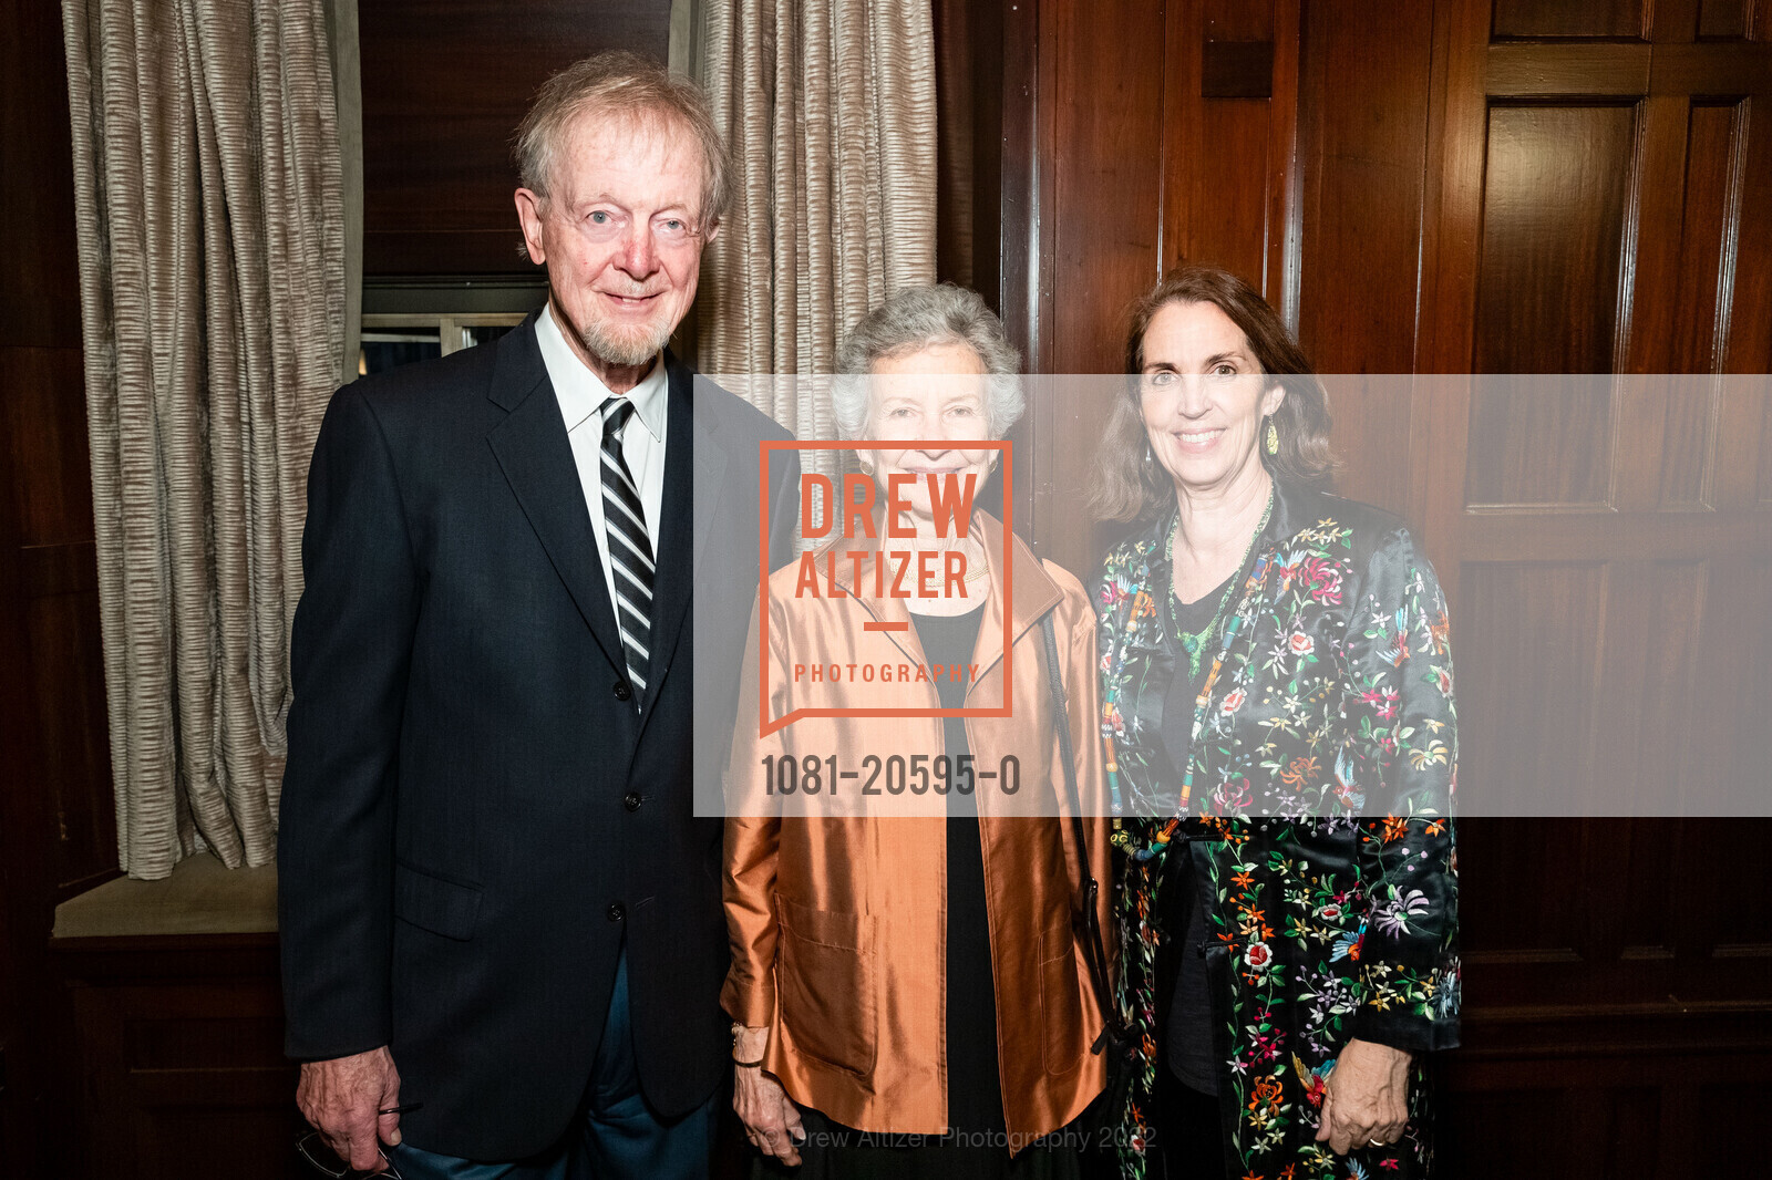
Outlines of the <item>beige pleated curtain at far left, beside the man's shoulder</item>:
[[262,865],[308,457],[354,344],[354,0],[62,16],[119,858]]

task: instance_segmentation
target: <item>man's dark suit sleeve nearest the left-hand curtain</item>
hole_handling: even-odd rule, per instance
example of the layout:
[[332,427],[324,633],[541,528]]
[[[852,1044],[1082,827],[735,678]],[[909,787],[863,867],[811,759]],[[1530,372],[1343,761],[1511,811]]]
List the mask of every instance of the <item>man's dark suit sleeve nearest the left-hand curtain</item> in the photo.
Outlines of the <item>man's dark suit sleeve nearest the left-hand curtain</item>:
[[418,613],[393,461],[356,386],[314,448],[301,565],[278,925],[285,1051],[323,1060],[392,1040],[393,794]]

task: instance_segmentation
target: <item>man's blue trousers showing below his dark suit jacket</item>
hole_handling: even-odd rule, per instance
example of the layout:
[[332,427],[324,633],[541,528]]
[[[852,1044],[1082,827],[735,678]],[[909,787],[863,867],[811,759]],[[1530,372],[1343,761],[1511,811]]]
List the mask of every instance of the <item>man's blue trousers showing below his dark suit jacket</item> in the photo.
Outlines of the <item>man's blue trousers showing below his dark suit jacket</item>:
[[542,1155],[475,1162],[415,1146],[385,1148],[406,1180],[707,1180],[721,1090],[682,1118],[661,1120],[640,1093],[627,1008],[627,951],[615,966],[615,992],[597,1061],[574,1127]]

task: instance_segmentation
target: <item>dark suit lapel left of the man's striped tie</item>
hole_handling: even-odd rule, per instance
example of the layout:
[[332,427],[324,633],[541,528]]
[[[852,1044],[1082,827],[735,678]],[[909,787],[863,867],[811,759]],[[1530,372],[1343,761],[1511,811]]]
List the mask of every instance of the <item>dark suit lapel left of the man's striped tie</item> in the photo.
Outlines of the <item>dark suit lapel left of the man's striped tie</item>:
[[585,625],[590,627],[610,664],[626,673],[627,664],[622,659],[620,636],[604,588],[602,563],[597,560],[597,537],[590,528],[590,510],[585,507],[585,487],[578,478],[572,443],[560,418],[553,383],[548,381],[540,345],[535,342],[535,317],[501,337],[494,347],[498,361],[487,397],[510,416],[493,427],[486,441]]

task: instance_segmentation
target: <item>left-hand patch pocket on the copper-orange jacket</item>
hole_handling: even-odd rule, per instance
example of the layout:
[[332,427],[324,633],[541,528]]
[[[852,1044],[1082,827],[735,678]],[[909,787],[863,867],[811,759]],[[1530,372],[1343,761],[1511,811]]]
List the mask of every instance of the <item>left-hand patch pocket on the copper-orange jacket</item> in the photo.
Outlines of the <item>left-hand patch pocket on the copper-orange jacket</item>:
[[776,990],[796,1051],[851,1074],[872,1074],[877,1049],[874,920],[812,909],[776,895],[781,925]]

